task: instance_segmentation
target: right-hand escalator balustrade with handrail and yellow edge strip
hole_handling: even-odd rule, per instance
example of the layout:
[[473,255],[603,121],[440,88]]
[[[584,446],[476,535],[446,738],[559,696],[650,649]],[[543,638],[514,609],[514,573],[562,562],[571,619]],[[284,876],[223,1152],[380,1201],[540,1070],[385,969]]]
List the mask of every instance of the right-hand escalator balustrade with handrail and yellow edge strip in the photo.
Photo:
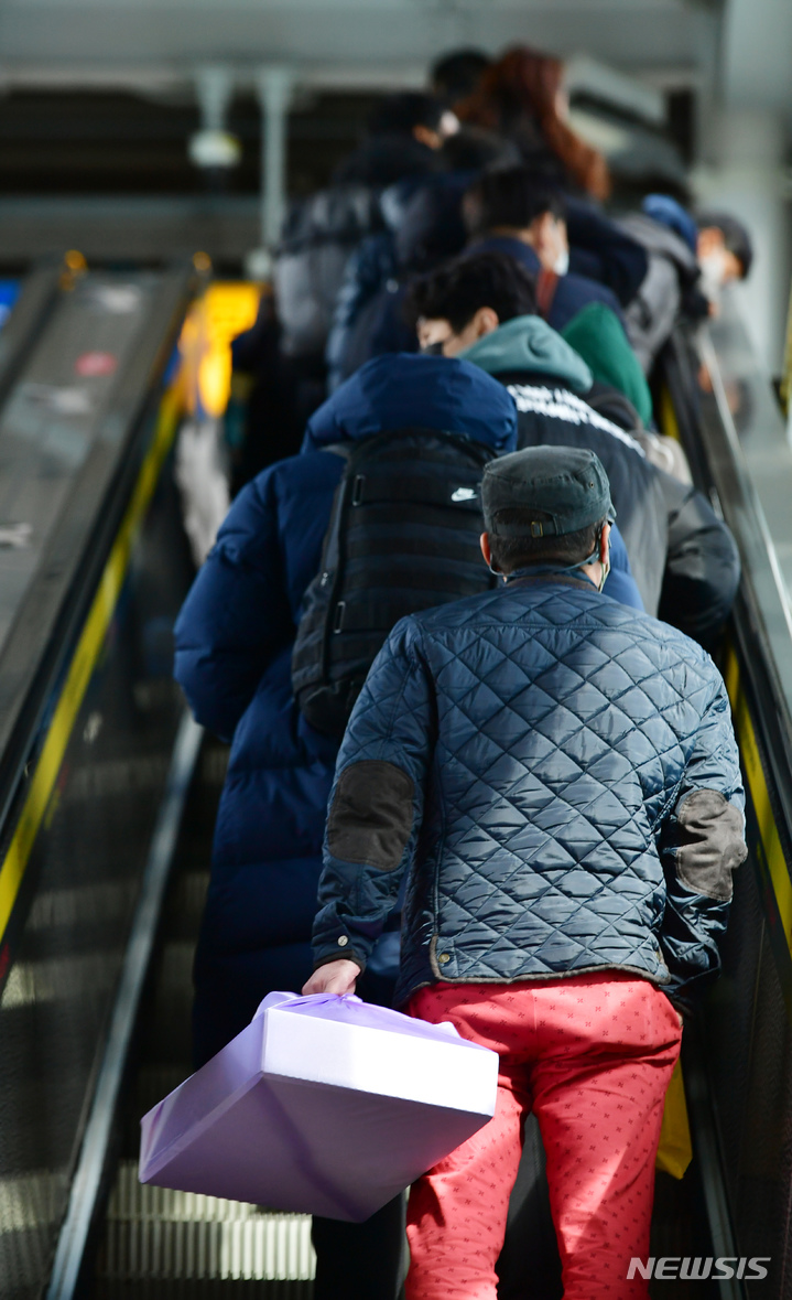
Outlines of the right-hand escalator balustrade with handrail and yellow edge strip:
[[[743,578],[722,662],[747,790],[748,862],[735,876],[723,975],[691,1039],[715,1253],[761,1256],[782,1296],[792,1264],[792,450],[736,303],[676,335],[666,413],[697,485],[731,526]],[[699,1145],[701,1135],[699,1135]]]

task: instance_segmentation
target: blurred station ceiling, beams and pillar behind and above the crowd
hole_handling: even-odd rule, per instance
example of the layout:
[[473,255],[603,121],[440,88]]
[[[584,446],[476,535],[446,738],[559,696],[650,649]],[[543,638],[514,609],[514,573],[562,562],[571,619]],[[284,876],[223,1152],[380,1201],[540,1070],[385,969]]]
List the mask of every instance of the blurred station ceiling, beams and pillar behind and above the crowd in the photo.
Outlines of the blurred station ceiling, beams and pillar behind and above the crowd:
[[605,153],[617,205],[671,187],[750,226],[740,292],[779,373],[784,0],[5,0],[0,266],[65,247],[135,261],[204,250],[239,273],[277,239],[286,196],[327,185],[380,96],[426,87],[449,51],[515,43],[566,61],[571,122]]

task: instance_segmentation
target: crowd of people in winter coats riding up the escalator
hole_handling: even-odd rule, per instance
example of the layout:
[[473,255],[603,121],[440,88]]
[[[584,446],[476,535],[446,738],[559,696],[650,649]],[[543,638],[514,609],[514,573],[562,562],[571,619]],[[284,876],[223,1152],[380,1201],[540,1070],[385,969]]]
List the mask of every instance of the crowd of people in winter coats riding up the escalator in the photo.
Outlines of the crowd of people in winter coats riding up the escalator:
[[[234,344],[238,495],[177,627],[231,742],[196,1065],[280,988],[501,1057],[492,1123],[412,1190],[408,1300],[528,1294],[501,1248],[530,1112],[548,1296],[645,1295],[682,1013],[745,853],[710,658],[737,552],[653,394],[750,240],[610,194],[557,60],[464,51],[384,100]],[[313,1235],[317,1300],[395,1300],[400,1197]]]

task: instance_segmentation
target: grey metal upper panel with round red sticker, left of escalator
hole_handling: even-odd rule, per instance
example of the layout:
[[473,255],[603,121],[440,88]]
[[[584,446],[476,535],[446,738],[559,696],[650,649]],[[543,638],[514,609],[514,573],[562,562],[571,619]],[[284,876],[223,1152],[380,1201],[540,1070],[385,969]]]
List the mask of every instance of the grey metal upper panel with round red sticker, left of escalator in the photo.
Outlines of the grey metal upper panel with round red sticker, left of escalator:
[[[139,294],[130,299],[134,309],[101,309],[103,302],[119,300],[108,294],[132,290]],[[30,545],[18,554],[0,554],[0,812],[13,786],[19,745],[35,732],[35,710],[45,679],[56,670],[47,656],[69,640],[66,628],[58,627],[68,593],[77,580],[91,590],[118,526],[108,511],[108,494],[118,477],[126,474],[134,482],[138,476],[145,450],[140,439],[144,404],[165,367],[164,350],[173,346],[184,294],[183,274],[129,283],[118,277],[86,277],[58,304],[0,413],[3,490],[8,490],[6,478],[16,477],[16,472],[4,473],[4,465],[19,456],[29,463],[30,481],[39,485],[35,499],[26,503],[27,517],[19,519],[31,526]],[[112,321],[116,315],[123,326],[117,322],[113,333],[108,317]],[[114,356],[117,369],[75,382],[80,356],[97,355],[80,348],[104,346],[103,341],[117,350],[117,355],[106,354]],[[62,402],[69,411],[58,413]],[[123,493],[116,493],[116,499],[122,500]],[[19,508],[13,508],[17,521]],[[38,690],[32,689],[36,673],[44,679]]]

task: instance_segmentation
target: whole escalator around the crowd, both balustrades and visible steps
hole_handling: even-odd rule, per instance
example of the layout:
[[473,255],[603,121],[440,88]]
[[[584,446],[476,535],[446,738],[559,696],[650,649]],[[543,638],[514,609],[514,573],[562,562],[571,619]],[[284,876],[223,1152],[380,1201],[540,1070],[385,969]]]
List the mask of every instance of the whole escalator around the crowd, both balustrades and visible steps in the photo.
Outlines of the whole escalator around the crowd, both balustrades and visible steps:
[[[0,335],[0,490],[5,447],[18,474],[0,515],[0,545],[13,538],[0,551],[9,1300],[312,1292],[306,1217],[136,1180],[138,1119],[191,1069],[190,967],[226,762],[170,679],[191,567],[167,460],[179,413],[167,358],[192,291],[190,272],[42,272]],[[114,312],[118,334],[106,316],[92,333],[93,312]],[[765,1282],[652,1284],[721,1300],[786,1294],[792,1200],[792,454],[769,387],[745,373],[740,329],[727,308],[706,334],[675,338],[661,393],[666,432],[744,563],[723,670],[750,858],[724,975],[686,1030],[695,1156],[682,1182],[658,1175],[652,1245],[658,1258],[734,1257],[735,1271],[743,1256],[769,1257]],[[42,491],[36,515],[47,439],[64,486],[57,511]]]

